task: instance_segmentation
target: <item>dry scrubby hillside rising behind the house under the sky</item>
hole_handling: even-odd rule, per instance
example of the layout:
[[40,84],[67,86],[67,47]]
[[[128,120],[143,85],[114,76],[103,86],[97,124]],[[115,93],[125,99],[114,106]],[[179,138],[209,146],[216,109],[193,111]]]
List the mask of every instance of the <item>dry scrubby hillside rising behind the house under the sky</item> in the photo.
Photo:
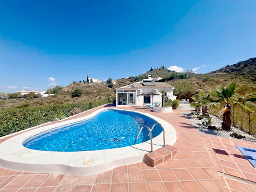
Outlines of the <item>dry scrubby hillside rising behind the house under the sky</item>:
[[[121,78],[117,80],[117,84],[112,88],[108,84],[94,84],[88,82],[73,82],[72,84],[63,87],[58,94],[51,97],[40,98],[14,98],[0,101],[0,110],[8,108],[21,108],[24,106],[48,106],[63,103],[80,103],[88,101],[99,101],[104,99],[115,99],[115,89],[124,85],[129,85],[133,82],[141,81],[147,78],[148,74],[152,77],[162,77],[161,82],[167,82],[174,85],[174,94],[178,99],[189,99],[200,91],[209,93],[216,85],[228,84],[236,81],[240,87],[240,94],[252,93],[255,88],[255,66],[256,57],[238,62],[234,65],[225,66],[214,72],[207,74],[196,74],[188,70],[185,73],[177,73],[164,68],[148,70],[144,74],[139,74],[135,77]],[[247,75],[248,74],[248,75]],[[75,89],[81,89],[81,97],[72,97]]]

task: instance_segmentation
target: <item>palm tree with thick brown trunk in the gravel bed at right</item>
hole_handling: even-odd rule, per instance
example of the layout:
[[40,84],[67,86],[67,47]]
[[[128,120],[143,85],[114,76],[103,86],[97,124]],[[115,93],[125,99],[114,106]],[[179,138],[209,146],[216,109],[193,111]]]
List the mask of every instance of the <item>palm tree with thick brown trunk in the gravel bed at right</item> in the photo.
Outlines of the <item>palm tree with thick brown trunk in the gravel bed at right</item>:
[[237,92],[237,84],[232,82],[227,86],[217,87],[215,90],[212,90],[212,95],[216,100],[212,99],[213,105],[224,105],[221,112],[223,114],[222,128],[227,131],[231,129],[231,105],[230,99]]

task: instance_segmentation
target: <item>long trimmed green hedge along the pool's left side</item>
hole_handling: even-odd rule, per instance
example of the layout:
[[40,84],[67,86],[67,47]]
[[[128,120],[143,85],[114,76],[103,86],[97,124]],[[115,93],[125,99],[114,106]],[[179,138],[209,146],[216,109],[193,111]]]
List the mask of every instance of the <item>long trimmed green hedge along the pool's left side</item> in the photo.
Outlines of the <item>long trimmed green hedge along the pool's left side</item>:
[[9,135],[10,133],[25,130],[26,128],[51,122],[56,116],[60,116],[60,114],[61,116],[69,116],[74,108],[86,111],[105,103],[109,103],[109,101],[103,100],[89,103],[26,107],[25,110],[24,108],[2,110],[0,111],[0,136]]

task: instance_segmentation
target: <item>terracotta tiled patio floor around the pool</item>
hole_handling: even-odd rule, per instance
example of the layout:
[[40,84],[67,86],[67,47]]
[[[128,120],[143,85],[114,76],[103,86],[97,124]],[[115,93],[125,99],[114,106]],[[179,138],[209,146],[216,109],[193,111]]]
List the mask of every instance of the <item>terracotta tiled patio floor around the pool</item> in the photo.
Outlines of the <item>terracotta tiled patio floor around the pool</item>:
[[[141,107],[122,108],[151,112]],[[81,115],[87,115],[89,112]],[[94,176],[35,174],[0,168],[0,189],[118,192],[256,191],[255,168],[235,147],[242,145],[256,148],[255,143],[200,134],[179,111],[174,110],[172,114],[151,114],[171,123],[177,132],[177,155],[156,168],[141,162]]]

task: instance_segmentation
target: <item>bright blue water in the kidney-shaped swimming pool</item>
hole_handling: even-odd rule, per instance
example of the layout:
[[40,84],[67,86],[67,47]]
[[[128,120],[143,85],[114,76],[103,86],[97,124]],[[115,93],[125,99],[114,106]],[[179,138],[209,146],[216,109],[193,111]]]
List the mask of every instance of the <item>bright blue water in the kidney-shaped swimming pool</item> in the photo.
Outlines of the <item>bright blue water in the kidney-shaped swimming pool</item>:
[[[141,127],[152,127],[154,119],[137,112],[107,109],[91,119],[44,133],[23,143],[24,147],[40,151],[94,151],[134,145]],[[152,131],[156,137],[162,132],[157,124]],[[143,128],[137,143],[150,140]]]

